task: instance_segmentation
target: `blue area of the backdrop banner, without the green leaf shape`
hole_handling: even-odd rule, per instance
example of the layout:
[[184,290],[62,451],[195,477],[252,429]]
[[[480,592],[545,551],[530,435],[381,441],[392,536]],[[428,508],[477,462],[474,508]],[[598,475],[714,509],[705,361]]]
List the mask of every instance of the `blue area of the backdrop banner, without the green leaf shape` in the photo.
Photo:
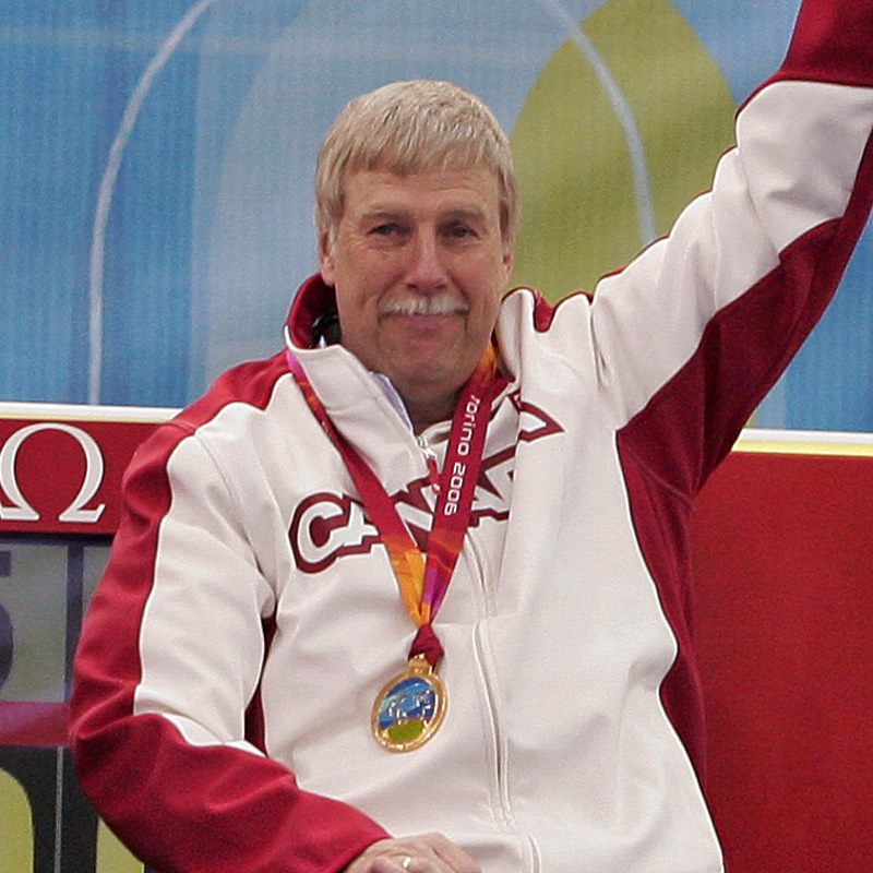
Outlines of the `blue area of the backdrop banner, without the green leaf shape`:
[[[343,105],[450,79],[511,132],[559,13],[600,4],[4,0],[0,399],[180,406],[273,352],[315,268],[312,166]],[[739,103],[799,2],[674,5]],[[871,236],[756,424],[873,430]]]

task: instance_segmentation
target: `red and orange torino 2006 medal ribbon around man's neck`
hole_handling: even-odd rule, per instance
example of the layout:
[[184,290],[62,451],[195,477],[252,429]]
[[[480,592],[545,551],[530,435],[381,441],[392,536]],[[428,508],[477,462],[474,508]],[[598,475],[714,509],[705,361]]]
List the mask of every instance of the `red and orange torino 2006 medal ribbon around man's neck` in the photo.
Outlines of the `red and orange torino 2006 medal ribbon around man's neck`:
[[491,405],[509,380],[497,374],[497,354],[489,345],[464,385],[452,419],[449,446],[439,477],[436,509],[428,539],[427,564],[394,502],[357,449],[343,436],[327,415],[300,361],[286,352],[288,368],[323,430],[343,456],[370,521],[391,558],[400,597],[419,629],[409,657],[424,655],[436,667],[443,649],[432,622],[442,606],[469,524],[479,478]]

